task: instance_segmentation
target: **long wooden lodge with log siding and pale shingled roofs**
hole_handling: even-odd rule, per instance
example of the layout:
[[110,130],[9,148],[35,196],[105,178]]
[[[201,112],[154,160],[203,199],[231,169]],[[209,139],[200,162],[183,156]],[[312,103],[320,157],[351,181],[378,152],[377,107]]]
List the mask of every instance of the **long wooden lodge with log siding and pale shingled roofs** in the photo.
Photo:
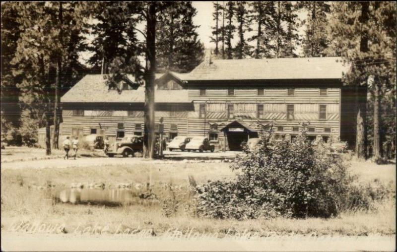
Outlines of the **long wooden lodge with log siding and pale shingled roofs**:
[[[204,61],[192,72],[156,74],[155,120],[164,135],[206,136],[219,150],[241,150],[258,136],[258,125],[274,122],[278,137],[295,137],[309,121],[311,138],[340,138],[340,58]],[[61,99],[66,135],[101,133],[111,141],[143,134],[144,87],[129,77],[120,91],[109,90],[102,75],[86,75]],[[348,132],[347,132],[348,134]],[[343,137],[342,137],[343,138]]]

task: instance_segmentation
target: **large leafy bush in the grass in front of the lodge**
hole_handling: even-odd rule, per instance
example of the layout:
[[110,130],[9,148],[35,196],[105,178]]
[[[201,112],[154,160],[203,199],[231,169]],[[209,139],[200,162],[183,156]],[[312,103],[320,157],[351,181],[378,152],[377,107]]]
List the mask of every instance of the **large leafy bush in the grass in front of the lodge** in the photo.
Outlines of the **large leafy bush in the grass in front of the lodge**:
[[331,217],[340,210],[351,178],[340,155],[327,144],[314,145],[307,125],[293,141],[279,141],[273,125],[260,132],[258,148],[245,147],[231,166],[235,181],[197,187],[198,213],[213,218]]

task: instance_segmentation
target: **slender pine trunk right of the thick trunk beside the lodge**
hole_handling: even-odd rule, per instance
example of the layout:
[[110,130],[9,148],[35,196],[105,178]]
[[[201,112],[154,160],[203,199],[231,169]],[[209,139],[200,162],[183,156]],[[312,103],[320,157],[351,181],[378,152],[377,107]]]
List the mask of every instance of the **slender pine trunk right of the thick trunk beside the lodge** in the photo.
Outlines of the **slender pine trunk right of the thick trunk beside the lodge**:
[[381,156],[381,134],[380,134],[380,87],[377,79],[374,80],[374,143],[373,155],[376,161],[382,158]]

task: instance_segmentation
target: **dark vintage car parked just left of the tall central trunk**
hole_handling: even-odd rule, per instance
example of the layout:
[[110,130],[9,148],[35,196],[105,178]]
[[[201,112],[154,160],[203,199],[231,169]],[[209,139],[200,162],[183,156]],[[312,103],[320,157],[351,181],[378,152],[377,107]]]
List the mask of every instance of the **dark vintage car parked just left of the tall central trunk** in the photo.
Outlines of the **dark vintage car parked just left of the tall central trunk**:
[[107,152],[109,157],[114,155],[123,155],[123,157],[132,156],[135,152],[143,151],[143,136],[141,135],[125,135],[121,141],[113,144]]

